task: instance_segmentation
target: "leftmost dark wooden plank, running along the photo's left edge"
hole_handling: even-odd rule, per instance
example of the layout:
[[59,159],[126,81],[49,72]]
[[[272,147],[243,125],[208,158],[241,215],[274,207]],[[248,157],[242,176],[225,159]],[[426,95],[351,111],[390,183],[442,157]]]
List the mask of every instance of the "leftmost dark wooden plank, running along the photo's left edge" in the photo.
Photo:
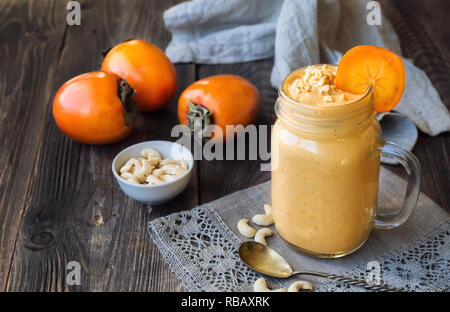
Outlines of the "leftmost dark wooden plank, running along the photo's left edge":
[[[25,196],[64,37],[63,2],[0,2],[0,289],[10,272]],[[61,26],[62,25],[62,26]]]

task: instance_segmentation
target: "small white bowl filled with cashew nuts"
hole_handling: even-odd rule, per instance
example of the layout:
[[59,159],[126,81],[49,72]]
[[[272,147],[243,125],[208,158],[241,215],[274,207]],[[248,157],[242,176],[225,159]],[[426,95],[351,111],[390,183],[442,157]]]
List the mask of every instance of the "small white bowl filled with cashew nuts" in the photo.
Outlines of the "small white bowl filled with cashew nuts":
[[158,205],[186,188],[193,166],[194,157],[186,147],[170,141],[147,141],[117,154],[112,171],[129,197]]

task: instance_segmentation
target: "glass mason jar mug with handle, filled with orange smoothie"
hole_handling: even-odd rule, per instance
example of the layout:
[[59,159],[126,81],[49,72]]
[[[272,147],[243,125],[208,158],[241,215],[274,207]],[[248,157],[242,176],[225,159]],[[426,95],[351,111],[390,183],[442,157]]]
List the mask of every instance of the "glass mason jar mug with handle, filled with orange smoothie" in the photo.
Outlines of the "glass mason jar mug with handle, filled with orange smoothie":
[[[416,206],[421,168],[413,154],[381,139],[372,88],[345,105],[314,106],[290,98],[285,81],[272,129],[272,209],[281,237],[304,253],[337,258],[361,247],[372,228],[404,223]],[[377,214],[380,154],[408,174],[395,214]]]

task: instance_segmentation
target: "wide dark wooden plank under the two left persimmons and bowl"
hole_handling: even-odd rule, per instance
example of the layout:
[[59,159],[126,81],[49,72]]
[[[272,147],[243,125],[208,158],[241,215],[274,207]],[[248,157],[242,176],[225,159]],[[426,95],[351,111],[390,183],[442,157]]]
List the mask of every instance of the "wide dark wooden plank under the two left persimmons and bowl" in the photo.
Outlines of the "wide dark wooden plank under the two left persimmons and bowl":
[[[98,68],[101,51],[125,39],[139,37],[164,47],[170,37],[161,14],[173,4],[84,1],[82,26],[67,29],[56,77],[50,83],[52,92],[70,77]],[[176,68],[182,90],[194,80],[194,66]],[[196,179],[176,201],[155,206],[149,213],[148,207],[121,192],[110,169],[122,148],[144,140],[170,139],[171,126],[177,124],[176,98],[159,112],[141,114],[130,137],[107,146],[87,146],[64,137],[52,120],[51,101],[44,103],[45,128],[8,290],[180,289],[147,234],[147,222],[194,207]],[[100,216],[103,223],[98,224]],[[65,266],[73,260],[82,266],[81,286],[65,282]]]

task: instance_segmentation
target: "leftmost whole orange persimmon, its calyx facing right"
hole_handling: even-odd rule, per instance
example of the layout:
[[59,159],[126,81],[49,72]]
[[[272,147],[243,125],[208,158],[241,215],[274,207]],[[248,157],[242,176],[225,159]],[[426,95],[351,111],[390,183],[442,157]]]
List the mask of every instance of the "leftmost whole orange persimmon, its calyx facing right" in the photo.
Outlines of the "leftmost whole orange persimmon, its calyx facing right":
[[134,90],[115,74],[101,71],[64,83],[53,100],[53,117],[71,139],[107,144],[130,134],[137,114]]

